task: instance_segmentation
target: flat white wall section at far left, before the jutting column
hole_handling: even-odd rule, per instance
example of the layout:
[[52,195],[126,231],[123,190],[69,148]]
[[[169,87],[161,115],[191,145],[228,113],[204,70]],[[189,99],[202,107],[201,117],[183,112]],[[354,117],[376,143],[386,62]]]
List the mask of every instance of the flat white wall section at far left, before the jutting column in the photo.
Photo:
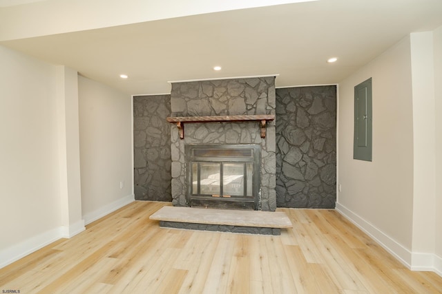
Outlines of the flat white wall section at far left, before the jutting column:
[[59,238],[56,69],[0,46],[0,267]]

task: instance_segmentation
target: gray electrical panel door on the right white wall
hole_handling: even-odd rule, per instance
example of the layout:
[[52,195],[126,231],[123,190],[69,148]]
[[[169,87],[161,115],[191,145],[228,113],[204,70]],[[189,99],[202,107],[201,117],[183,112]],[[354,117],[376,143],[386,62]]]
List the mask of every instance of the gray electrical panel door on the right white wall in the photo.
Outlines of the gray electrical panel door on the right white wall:
[[372,161],[372,78],[354,87],[353,158]]

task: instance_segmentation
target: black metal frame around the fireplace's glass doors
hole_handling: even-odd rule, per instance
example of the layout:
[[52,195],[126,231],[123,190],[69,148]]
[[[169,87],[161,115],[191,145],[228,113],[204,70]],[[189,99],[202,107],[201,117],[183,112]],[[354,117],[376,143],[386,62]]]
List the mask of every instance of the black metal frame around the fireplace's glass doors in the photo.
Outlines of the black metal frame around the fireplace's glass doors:
[[[211,156],[193,156],[192,150],[198,149],[253,149],[253,158],[243,156],[223,156],[223,157],[211,157]],[[231,208],[240,207],[241,202],[244,203],[244,207],[251,206],[253,204],[253,209],[257,210],[260,203],[260,165],[261,165],[261,147],[256,144],[188,144],[184,146],[185,151],[185,161],[184,165],[186,169],[186,204],[189,207],[193,206],[193,202],[211,202],[213,204],[223,204],[229,206],[231,204]],[[203,194],[192,194],[192,162],[222,162],[222,163],[231,163],[231,162],[241,162],[244,163],[244,166],[247,162],[253,162],[253,178],[252,178],[252,196],[249,197],[212,197],[211,195],[203,195]],[[198,171],[199,173],[200,171]],[[222,172],[222,169],[221,169]],[[245,172],[245,171],[244,171]],[[244,186],[247,186],[244,181]],[[220,189],[222,189],[222,174],[220,174]],[[222,194],[222,190],[220,191]],[[211,205],[211,207],[220,207],[220,205]],[[223,208],[224,208],[223,207]]]

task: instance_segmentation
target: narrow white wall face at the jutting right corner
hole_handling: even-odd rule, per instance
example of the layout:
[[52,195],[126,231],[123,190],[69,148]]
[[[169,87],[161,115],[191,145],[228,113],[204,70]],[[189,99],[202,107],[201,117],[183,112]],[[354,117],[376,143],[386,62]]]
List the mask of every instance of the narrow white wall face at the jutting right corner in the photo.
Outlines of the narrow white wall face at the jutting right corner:
[[[413,95],[413,261],[431,264],[434,253],[436,143],[433,33],[410,34]],[[425,258],[429,258],[425,262]]]

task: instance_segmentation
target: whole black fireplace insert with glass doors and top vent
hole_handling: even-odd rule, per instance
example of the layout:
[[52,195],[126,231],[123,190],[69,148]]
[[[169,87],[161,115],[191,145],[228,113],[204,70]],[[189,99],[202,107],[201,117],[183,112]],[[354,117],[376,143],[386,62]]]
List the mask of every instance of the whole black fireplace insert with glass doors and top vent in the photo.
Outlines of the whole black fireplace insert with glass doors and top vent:
[[260,145],[186,145],[189,207],[260,206]]

